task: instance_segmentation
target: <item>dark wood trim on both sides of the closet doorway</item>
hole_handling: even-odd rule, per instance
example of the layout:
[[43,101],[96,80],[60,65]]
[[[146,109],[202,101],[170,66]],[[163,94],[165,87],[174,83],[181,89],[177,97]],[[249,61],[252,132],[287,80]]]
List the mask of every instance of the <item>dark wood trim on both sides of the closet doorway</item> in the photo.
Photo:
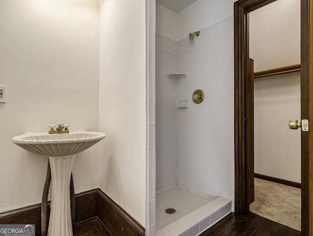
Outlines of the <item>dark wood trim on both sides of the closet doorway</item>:
[[[235,213],[249,213],[246,138],[246,78],[249,62],[248,13],[276,0],[238,0],[234,3],[235,49]],[[311,91],[311,93],[310,93]],[[313,236],[313,0],[301,0],[301,119],[309,132],[301,134],[301,233]],[[312,118],[312,119],[310,119]]]

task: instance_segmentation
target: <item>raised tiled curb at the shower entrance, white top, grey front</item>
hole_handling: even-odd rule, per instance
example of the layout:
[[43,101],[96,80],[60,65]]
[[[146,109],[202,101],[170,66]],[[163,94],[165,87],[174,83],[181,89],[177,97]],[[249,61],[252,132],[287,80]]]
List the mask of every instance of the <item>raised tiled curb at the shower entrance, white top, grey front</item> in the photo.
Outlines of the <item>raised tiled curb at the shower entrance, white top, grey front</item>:
[[197,236],[231,212],[230,199],[218,197],[156,231],[156,236]]

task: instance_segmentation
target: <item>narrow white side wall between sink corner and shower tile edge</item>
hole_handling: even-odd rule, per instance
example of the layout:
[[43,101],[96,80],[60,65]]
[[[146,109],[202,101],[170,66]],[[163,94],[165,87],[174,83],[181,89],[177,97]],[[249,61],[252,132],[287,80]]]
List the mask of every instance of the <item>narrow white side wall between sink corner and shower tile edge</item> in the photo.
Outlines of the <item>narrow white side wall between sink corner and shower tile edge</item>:
[[145,1],[100,1],[100,188],[145,226]]

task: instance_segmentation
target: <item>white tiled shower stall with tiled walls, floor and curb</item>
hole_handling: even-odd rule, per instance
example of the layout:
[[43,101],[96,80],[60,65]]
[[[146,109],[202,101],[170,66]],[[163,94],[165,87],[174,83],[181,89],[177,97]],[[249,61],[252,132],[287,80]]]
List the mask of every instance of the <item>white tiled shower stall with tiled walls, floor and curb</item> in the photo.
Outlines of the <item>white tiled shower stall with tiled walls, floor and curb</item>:
[[[157,9],[150,0],[149,235],[198,235],[233,210],[233,16],[175,41],[158,33]],[[167,76],[174,72],[187,76]],[[197,89],[201,104],[192,101]]]

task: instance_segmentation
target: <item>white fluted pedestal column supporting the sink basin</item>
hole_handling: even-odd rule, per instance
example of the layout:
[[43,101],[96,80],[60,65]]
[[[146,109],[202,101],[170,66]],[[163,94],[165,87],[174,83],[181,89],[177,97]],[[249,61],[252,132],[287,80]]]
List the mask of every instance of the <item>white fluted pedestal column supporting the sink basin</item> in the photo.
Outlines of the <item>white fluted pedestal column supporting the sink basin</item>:
[[51,212],[48,236],[72,236],[70,176],[75,155],[49,157],[51,168]]

